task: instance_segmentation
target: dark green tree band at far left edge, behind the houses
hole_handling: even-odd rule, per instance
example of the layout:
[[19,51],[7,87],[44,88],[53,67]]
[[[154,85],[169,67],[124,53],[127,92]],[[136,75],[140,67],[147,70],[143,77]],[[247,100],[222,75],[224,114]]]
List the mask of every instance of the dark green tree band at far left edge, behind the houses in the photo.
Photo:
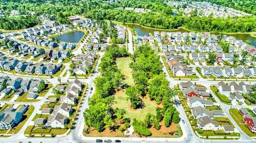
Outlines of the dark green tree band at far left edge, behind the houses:
[[34,27],[41,21],[33,15],[26,16],[14,16],[14,17],[1,17],[0,18],[0,29],[5,30],[17,30],[25,29],[28,27]]

